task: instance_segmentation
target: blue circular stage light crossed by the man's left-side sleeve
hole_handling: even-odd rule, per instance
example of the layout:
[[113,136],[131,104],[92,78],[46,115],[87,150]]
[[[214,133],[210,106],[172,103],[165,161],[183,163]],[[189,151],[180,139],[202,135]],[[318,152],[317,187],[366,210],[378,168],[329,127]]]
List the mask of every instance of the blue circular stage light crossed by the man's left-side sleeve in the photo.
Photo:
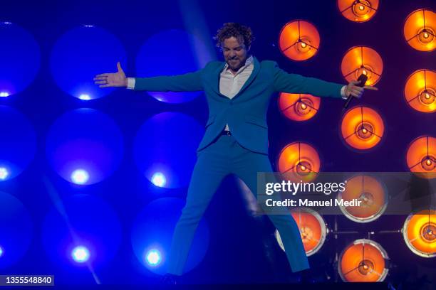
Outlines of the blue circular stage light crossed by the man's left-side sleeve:
[[[177,48],[176,48],[177,47]],[[180,75],[203,68],[209,58],[206,45],[186,31],[172,29],[157,33],[142,45],[136,57],[137,77]],[[202,92],[148,92],[156,100],[190,102]]]

